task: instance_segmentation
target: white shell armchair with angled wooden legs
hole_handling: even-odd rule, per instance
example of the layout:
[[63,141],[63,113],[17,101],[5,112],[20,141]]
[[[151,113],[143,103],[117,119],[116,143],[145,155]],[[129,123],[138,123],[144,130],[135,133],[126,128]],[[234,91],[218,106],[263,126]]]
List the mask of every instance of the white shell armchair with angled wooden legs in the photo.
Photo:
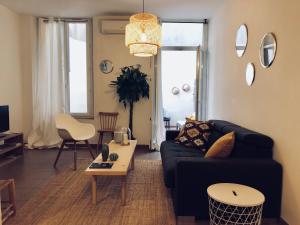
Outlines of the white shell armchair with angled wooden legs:
[[71,115],[64,113],[59,113],[56,115],[55,124],[58,134],[62,138],[63,142],[56,156],[53,165],[54,168],[56,168],[58,159],[67,142],[74,143],[74,170],[77,169],[77,142],[84,141],[92,158],[95,159],[92,148],[88,142],[88,139],[91,139],[96,134],[95,127],[92,124],[81,123],[78,120],[74,119]]

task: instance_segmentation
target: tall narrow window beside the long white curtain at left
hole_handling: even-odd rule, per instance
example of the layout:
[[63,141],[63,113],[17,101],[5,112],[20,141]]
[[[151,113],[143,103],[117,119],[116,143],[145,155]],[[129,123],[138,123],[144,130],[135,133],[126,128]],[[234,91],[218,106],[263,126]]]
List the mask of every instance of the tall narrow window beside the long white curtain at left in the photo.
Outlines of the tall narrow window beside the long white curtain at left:
[[76,117],[93,117],[91,22],[68,21],[65,28],[67,111]]

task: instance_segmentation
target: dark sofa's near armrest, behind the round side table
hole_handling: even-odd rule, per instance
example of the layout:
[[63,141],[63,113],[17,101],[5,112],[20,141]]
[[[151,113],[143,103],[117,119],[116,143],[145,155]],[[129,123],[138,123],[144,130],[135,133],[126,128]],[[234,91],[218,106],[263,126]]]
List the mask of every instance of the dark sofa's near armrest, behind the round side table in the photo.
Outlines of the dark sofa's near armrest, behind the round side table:
[[[207,188],[215,183],[239,183],[261,191],[264,217],[280,217],[282,167],[272,159],[205,159],[181,157],[175,170],[176,215],[208,217]],[[190,215],[188,215],[190,214]]]

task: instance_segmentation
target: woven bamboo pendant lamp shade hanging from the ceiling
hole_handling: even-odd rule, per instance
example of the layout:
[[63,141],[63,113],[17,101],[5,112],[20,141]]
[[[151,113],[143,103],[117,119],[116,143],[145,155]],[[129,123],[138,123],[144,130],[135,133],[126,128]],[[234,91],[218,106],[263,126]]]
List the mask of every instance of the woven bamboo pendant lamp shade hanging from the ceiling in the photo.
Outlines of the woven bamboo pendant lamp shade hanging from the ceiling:
[[132,15],[126,25],[125,45],[134,56],[156,55],[161,45],[161,26],[157,17],[150,13]]

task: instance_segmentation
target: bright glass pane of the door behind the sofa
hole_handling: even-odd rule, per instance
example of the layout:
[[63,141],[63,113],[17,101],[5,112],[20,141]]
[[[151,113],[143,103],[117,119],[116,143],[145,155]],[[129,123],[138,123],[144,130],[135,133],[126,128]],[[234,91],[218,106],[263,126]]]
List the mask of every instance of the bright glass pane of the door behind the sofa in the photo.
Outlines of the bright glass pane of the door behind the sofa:
[[164,119],[169,127],[180,128],[186,118],[196,119],[199,93],[197,48],[161,51],[161,78]]

